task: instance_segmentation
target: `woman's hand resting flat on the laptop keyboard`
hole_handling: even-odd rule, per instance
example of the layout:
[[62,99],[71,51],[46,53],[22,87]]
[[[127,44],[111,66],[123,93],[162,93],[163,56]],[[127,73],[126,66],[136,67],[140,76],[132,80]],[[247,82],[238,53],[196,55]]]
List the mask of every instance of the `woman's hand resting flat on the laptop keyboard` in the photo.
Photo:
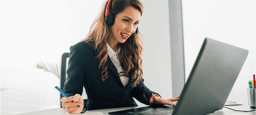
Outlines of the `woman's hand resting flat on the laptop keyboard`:
[[179,97],[180,96],[172,98],[172,99],[164,99],[164,98],[161,98],[160,96],[152,93],[152,97],[150,98],[150,102],[153,103],[153,104],[168,104],[168,105],[171,105],[171,106],[175,107],[176,104],[174,104],[172,101],[179,100]]

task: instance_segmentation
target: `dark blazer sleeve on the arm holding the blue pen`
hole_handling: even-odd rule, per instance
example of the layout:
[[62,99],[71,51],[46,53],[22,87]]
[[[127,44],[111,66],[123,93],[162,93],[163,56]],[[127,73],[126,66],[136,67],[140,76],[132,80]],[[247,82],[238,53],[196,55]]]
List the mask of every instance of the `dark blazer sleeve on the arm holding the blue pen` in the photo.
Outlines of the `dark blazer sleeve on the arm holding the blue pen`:
[[[68,96],[74,96],[75,94],[82,95],[83,84],[86,75],[79,50],[77,50],[74,46],[70,47],[67,75],[68,76],[65,81],[65,87],[63,88],[63,92],[66,93]],[[87,110],[86,103],[84,104],[84,108]]]

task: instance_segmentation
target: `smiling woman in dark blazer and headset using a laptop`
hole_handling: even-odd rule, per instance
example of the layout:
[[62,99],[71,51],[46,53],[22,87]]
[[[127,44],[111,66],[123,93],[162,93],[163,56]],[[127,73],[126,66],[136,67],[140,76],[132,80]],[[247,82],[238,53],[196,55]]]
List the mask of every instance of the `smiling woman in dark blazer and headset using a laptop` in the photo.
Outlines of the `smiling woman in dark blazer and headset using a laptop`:
[[[171,101],[179,97],[163,99],[143,84],[143,46],[138,31],[142,3],[108,0],[104,4],[87,37],[70,47],[68,77],[63,88],[70,98],[61,99],[62,107],[78,114],[86,110],[138,106],[132,97],[147,105],[175,106]],[[81,97],[83,87],[87,100]]]

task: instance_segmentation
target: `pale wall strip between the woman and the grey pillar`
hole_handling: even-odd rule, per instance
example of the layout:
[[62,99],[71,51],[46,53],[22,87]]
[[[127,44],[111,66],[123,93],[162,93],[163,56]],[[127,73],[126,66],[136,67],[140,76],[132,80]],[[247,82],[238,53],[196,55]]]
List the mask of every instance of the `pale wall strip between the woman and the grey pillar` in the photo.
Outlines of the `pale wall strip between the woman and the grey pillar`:
[[144,13],[139,24],[144,38],[142,54],[145,85],[163,98],[172,98],[168,0],[140,0]]

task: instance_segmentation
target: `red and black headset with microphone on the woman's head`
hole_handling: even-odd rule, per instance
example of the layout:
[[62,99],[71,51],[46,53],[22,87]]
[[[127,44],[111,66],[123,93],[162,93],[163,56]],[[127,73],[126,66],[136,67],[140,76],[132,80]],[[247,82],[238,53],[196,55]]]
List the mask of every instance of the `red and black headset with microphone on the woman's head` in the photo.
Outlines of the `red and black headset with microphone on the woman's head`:
[[[111,8],[112,8],[112,1],[113,0],[109,0],[108,4],[106,6],[106,12],[105,12],[105,20],[106,22],[111,26],[114,24],[115,22],[115,15],[114,13],[111,12]],[[136,37],[138,35],[139,31],[138,31],[138,27],[136,29],[136,34],[133,37]]]

